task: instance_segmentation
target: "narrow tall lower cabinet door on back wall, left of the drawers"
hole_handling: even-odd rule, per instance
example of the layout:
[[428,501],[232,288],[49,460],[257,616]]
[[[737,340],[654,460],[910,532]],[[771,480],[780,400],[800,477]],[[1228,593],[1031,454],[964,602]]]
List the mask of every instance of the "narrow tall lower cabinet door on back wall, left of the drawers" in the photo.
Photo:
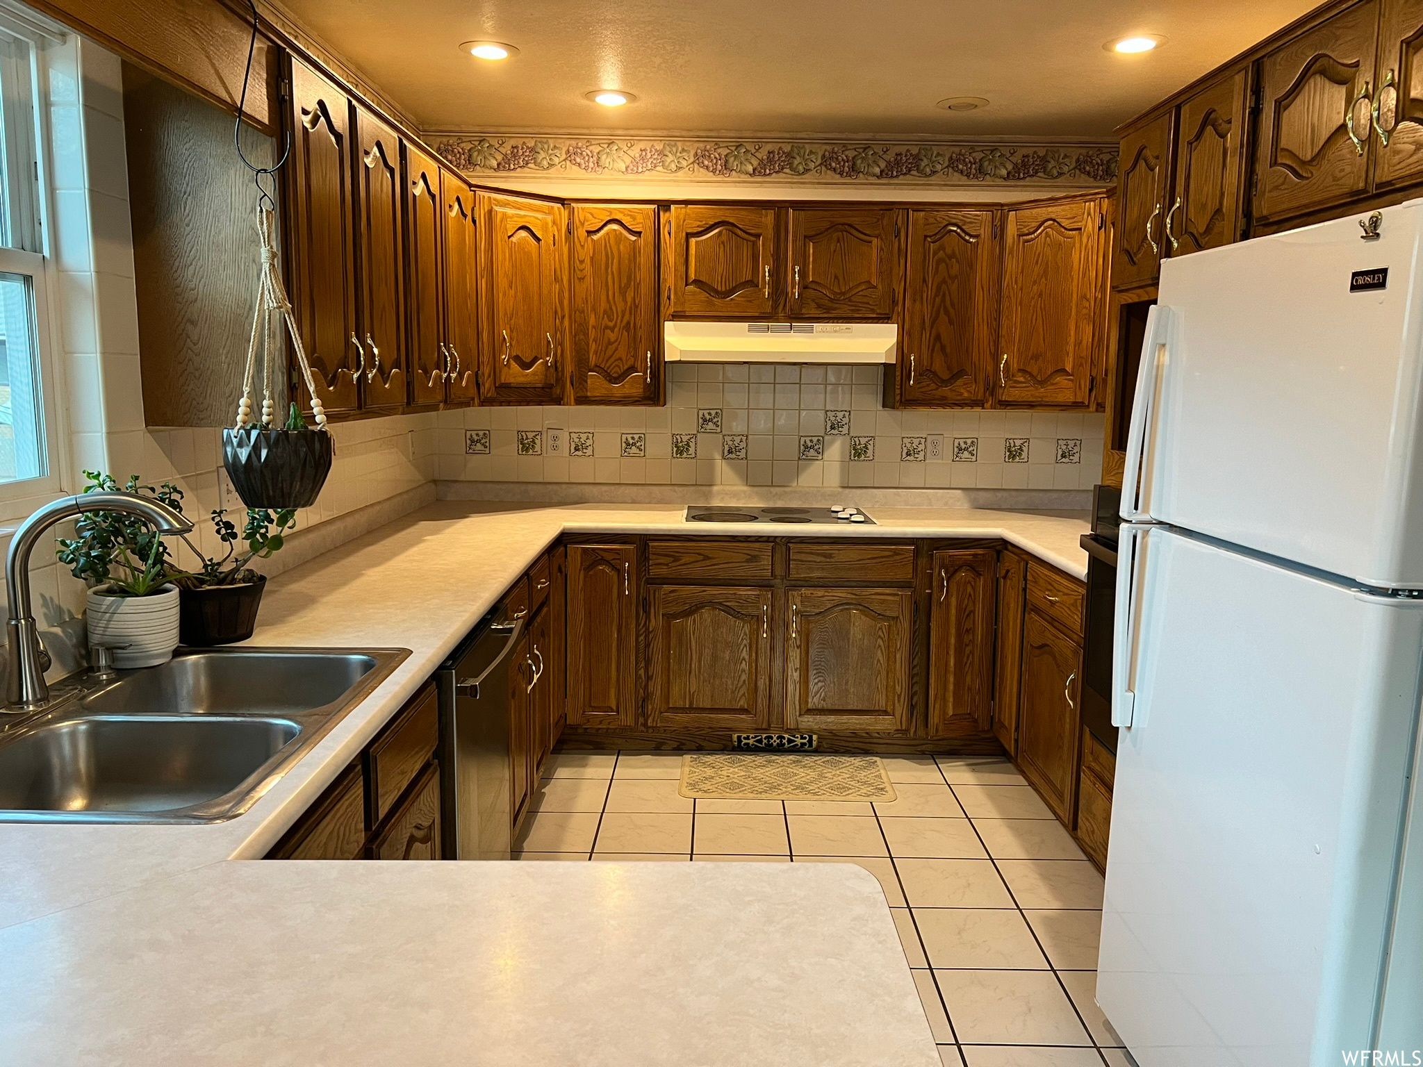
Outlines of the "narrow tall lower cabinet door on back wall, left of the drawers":
[[568,546],[568,724],[633,726],[636,549]]

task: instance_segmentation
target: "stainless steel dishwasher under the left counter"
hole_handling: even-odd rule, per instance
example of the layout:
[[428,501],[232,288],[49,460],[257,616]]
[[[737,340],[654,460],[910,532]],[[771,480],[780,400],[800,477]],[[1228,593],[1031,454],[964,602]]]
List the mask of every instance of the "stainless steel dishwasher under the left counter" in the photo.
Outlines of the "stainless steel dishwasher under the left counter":
[[504,612],[490,612],[435,676],[450,859],[509,858],[509,663],[527,620]]

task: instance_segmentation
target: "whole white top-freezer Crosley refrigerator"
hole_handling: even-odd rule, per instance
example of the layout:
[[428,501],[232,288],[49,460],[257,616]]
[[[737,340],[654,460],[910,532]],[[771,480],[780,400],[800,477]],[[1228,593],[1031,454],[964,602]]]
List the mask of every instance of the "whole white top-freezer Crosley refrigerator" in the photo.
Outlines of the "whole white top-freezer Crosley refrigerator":
[[1161,267],[1097,972],[1141,1067],[1423,1064],[1423,201],[1380,215]]

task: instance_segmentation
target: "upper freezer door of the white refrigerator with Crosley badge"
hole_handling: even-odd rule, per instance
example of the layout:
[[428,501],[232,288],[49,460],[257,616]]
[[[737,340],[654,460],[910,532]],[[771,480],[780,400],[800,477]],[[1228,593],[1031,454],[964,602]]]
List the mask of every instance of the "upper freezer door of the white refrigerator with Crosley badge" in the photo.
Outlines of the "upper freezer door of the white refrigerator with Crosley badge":
[[1345,218],[1161,265],[1138,518],[1423,588],[1423,202],[1382,215],[1377,240]]

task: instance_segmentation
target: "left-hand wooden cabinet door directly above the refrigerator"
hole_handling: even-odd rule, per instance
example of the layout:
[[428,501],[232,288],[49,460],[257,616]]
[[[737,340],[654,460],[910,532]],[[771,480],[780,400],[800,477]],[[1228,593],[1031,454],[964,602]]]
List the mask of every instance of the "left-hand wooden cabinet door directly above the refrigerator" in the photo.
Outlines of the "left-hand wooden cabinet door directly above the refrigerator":
[[1377,18],[1377,0],[1363,0],[1259,61],[1257,221],[1368,191]]

